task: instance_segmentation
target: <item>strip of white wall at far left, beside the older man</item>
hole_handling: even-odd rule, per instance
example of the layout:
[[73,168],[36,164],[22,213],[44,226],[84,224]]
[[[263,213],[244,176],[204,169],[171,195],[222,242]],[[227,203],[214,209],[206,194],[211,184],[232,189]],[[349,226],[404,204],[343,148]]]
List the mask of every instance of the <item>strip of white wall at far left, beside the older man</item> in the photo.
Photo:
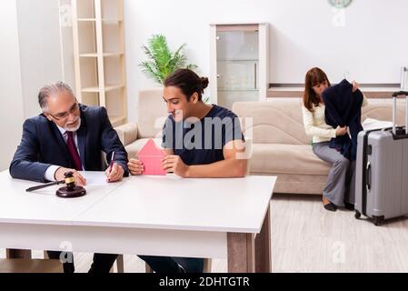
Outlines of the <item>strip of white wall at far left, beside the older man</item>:
[[0,27],[0,170],[5,170],[20,141],[24,119],[14,0],[0,1]]

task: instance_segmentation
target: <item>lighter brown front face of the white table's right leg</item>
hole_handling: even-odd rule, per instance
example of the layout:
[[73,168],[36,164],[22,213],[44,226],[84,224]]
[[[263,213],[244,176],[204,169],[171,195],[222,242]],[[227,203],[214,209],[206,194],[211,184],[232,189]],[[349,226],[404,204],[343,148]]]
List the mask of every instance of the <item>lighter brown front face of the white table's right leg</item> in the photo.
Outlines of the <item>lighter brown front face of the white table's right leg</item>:
[[254,246],[254,234],[227,234],[229,273],[254,273]]

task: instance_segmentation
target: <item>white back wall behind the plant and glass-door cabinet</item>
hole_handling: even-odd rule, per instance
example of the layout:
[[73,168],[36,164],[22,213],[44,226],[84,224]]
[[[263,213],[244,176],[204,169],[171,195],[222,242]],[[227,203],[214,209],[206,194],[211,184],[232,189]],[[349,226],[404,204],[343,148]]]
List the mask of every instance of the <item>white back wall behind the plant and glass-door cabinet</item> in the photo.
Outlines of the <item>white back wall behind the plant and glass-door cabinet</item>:
[[186,43],[191,62],[209,75],[209,24],[268,22],[271,83],[302,83],[314,65],[333,82],[349,71],[360,83],[399,83],[408,65],[407,11],[406,0],[354,0],[344,26],[335,26],[338,13],[326,0],[124,0],[129,119],[138,90],[154,85],[138,67],[152,34],[164,34],[173,48]]

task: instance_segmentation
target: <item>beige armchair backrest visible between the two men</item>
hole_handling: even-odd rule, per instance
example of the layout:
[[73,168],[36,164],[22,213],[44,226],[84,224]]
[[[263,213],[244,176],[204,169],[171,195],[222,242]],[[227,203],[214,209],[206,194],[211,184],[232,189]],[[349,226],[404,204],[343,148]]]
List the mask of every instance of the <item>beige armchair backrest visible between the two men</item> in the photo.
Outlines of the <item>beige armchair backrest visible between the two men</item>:
[[137,138],[160,137],[168,116],[163,89],[140,90],[137,112]]

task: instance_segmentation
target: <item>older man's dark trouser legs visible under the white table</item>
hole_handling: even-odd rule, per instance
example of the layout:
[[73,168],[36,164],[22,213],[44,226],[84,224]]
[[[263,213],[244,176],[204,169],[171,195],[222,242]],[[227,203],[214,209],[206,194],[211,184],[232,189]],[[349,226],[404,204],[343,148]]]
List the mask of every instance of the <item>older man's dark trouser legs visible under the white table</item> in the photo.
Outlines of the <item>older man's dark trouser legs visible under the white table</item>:
[[[61,257],[61,252],[58,251],[47,251],[47,254],[52,259],[63,259],[64,273],[74,273],[74,256],[72,253],[65,253]],[[114,260],[117,255],[111,254],[94,254],[94,262],[88,273],[90,274],[103,274],[109,273],[111,267],[114,265]]]

